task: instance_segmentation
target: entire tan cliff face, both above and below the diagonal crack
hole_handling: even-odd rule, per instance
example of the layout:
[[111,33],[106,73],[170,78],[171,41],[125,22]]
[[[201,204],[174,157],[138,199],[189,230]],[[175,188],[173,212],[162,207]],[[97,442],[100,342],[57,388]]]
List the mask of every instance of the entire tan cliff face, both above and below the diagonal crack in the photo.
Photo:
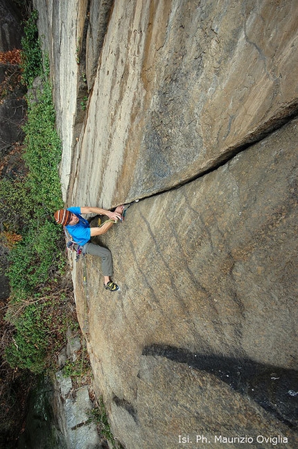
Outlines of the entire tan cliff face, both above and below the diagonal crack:
[[296,2],[96,3],[35,0],[67,205],[140,199],[98,239],[120,292],[88,256],[86,294],[73,262],[112,431],[129,449],[294,448]]

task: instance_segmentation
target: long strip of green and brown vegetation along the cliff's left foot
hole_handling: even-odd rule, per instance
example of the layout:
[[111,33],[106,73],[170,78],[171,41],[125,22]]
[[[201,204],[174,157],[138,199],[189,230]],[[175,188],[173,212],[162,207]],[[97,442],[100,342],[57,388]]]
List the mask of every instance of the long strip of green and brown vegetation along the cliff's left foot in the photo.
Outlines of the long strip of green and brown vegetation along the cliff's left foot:
[[71,280],[64,278],[64,239],[53,220],[53,212],[63,207],[58,173],[61,143],[55,130],[48,70],[42,69],[47,63],[42,64],[36,19],[37,12],[33,11],[25,26],[22,80],[30,87],[40,76],[42,87],[35,101],[28,97],[21,155],[24,175],[0,181],[1,214],[5,217],[0,237],[10,250],[6,361],[12,368],[40,373],[51,364],[67,327],[76,319],[68,304]]

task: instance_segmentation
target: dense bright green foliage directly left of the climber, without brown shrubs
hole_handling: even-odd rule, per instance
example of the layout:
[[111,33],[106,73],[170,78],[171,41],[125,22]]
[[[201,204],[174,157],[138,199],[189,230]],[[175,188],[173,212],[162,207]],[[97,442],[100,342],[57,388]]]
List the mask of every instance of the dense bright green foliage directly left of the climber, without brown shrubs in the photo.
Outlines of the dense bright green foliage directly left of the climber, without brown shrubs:
[[[28,175],[18,186],[23,198],[18,205],[24,223],[23,239],[10,252],[8,270],[12,296],[17,299],[33,295],[61,260],[61,230],[53,221],[53,212],[63,207],[58,175],[61,143],[55,130],[49,81],[44,83],[38,103],[29,105],[24,130],[23,157]],[[6,200],[8,208],[13,209],[17,192]]]

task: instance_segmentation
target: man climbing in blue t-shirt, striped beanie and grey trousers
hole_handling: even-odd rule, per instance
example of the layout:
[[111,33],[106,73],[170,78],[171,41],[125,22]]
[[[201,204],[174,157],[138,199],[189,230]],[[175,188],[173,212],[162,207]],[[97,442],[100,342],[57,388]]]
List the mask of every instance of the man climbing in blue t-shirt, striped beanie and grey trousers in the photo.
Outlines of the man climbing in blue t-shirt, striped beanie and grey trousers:
[[[105,289],[109,291],[119,289],[118,285],[111,280],[113,273],[112,254],[109,249],[91,243],[90,239],[96,235],[105,234],[114,223],[121,220],[123,210],[123,205],[117,206],[114,212],[101,209],[100,207],[69,207],[68,209],[60,209],[54,214],[55,221],[64,226],[71,235],[76,251],[81,249],[83,254],[97,255],[101,258],[104,285]],[[99,228],[90,228],[89,222],[81,214],[106,215],[108,220]]]

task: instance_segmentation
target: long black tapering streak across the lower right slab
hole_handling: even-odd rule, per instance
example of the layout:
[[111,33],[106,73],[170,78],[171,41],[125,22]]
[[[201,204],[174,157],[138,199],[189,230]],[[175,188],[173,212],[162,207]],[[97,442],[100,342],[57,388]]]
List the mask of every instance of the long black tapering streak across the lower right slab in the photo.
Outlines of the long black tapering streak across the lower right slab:
[[191,353],[187,349],[152,345],[142,355],[166,357],[189,368],[216,375],[243,396],[249,396],[288,427],[297,427],[298,376],[294,369],[250,359]]

